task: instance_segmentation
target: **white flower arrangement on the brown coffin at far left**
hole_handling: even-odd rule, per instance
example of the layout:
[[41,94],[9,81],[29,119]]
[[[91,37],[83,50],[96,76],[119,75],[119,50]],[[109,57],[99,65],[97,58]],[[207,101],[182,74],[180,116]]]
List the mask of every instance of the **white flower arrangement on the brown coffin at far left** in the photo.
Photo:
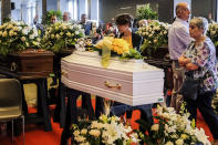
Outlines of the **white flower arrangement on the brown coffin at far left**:
[[30,48],[40,48],[37,29],[13,21],[0,25],[0,54],[7,55]]

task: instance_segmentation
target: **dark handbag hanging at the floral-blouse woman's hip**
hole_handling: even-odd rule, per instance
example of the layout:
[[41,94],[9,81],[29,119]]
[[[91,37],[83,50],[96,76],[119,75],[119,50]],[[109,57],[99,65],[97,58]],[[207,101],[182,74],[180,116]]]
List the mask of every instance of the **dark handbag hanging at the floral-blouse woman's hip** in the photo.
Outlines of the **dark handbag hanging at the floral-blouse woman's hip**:
[[193,100],[193,101],[197,100],[199,93],[200,80],[201,79],[196,80],[186,75],[179,93],[183,94],[183,96],[188,100]]

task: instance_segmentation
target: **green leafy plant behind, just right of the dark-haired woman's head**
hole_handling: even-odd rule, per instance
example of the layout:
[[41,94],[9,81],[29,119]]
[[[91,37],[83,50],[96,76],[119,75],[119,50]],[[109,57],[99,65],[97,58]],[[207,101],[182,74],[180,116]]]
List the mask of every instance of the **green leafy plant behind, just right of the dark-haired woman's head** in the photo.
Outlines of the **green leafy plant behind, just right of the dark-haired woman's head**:
[[157,20],[157,12],[153,11],[152,8],[149,7],[149,3],[147,3],[144,7],[141,7],[139,9],[137,9],[136,18],[138,20],[142,20],[142,19]]

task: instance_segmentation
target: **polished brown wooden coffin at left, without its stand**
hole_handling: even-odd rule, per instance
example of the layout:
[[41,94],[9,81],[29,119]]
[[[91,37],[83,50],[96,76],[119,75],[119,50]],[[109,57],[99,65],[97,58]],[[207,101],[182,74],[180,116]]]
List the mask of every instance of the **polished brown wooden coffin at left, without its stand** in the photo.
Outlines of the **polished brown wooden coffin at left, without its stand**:
[[53,72],[53,53],[44,50],[25,50],[0,58],[0,69],[19,76],[43,77]]

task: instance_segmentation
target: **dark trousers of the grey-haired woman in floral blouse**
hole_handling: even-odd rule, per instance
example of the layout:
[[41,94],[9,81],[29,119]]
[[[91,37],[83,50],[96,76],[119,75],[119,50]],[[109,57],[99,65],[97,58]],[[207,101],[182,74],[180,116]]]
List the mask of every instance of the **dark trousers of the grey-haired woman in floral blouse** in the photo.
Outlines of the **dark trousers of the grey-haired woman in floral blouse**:
[[200,111],[205,122],[209,126],[209,130],[215,139],[218,139],[218,116],[215,113],[211,101],[216,91],[205,92],[198,95],[196,101],[187,100],[184,96],[186,102],[186,107],[190,113],[189,120],[193,121],[197,117],[197,108]]

